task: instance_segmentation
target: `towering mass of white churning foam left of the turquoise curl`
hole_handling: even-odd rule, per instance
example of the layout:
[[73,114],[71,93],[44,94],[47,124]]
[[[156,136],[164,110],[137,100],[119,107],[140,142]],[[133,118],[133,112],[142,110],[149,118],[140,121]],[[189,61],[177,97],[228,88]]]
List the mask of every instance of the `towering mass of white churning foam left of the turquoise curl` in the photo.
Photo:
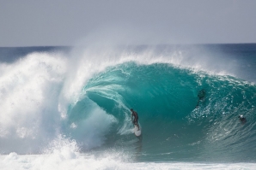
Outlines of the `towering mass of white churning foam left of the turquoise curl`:
[[40,141],[54,136],[58,128],[55,105],[66,71],[64,59],[33,53],[1,68],[1,152],[38,151]]

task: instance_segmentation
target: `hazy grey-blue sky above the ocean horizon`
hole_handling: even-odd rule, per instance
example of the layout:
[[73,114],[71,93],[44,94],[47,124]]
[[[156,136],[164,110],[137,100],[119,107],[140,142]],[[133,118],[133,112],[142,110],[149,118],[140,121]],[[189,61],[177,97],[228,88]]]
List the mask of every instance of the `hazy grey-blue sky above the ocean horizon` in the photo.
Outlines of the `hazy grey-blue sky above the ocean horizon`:
[[254,0],[0,0],[0,46],[256,43]]

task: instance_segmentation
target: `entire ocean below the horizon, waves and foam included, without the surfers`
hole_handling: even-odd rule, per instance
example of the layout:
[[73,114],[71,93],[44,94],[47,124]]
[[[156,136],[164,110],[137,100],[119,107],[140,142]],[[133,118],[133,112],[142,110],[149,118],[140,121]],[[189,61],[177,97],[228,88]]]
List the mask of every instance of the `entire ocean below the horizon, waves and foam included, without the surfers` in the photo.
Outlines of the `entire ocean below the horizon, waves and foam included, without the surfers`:
[[0,168],[256,169],[255,83],[256,44],[0,48]]

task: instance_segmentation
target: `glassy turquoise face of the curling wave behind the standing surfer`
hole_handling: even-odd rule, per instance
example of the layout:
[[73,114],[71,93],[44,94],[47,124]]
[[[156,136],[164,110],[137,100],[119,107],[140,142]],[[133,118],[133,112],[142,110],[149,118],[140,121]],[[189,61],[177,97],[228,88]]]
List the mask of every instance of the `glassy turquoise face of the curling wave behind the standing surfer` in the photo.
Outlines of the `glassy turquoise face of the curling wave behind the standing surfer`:
[[[86,120],[95,107],[113,115],[103,148],[132,148],[141,161],[254,161],[255,94],[255,85],[230,76],[126,62],[94,75],[69,118]],[[143,138],[131,133],[130,108]]]

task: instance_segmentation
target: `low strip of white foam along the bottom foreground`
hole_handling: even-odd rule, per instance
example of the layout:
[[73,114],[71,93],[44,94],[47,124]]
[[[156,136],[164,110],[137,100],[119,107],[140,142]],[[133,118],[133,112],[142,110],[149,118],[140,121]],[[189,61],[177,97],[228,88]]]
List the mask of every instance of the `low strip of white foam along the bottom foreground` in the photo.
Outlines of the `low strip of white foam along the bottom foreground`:
[[200,162],[125,162],[120,161],[119,155],[105,155],[95,158],[94,155],[64,156],[61,153],[52,155],[0,155],[1,169],[24,170],[66,170],[66,169],[247,169],[253,170],[255,163],[200,163]]

